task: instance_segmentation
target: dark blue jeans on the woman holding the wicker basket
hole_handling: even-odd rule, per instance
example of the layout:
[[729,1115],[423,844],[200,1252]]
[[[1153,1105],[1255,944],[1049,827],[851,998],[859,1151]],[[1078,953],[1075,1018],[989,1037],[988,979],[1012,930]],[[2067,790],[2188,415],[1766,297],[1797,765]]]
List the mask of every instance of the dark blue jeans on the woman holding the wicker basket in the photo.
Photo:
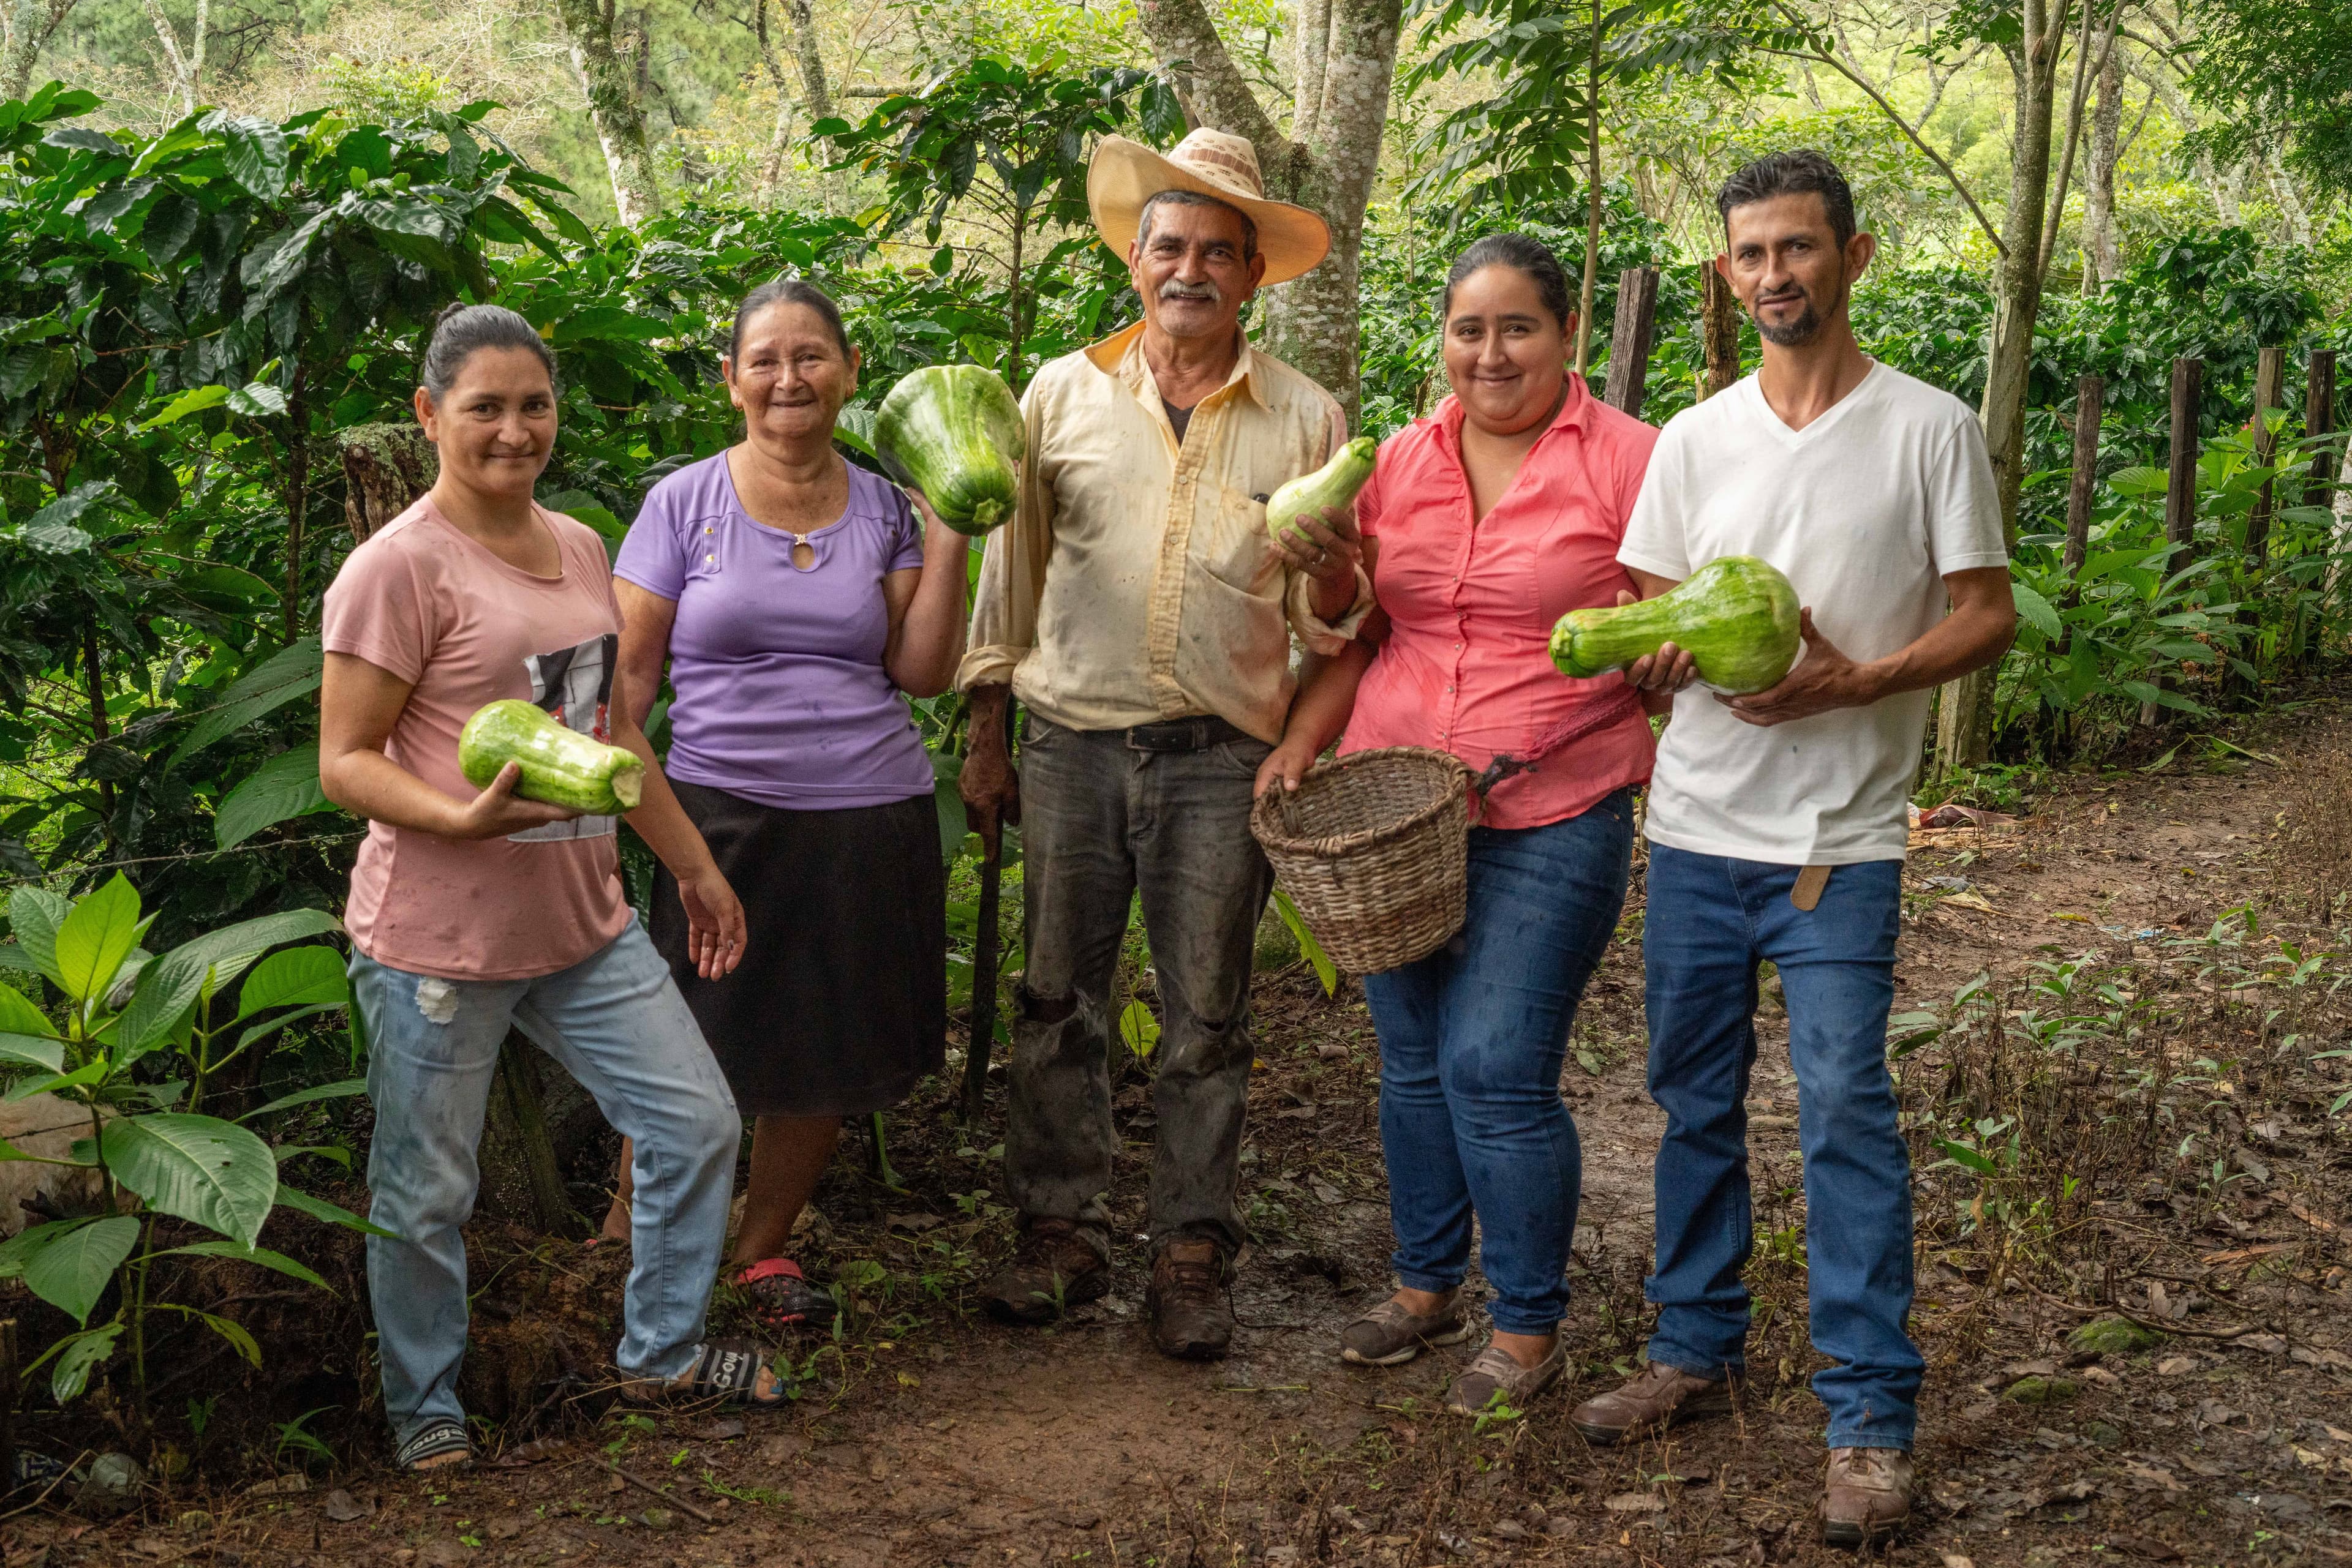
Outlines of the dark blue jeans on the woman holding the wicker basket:
[[1472,827],[1463,929],[1425,959],[1364,976],[1397,1279],[1458,1286],[1475,1211],[1503,1333],[1552,1333],[1569,1307],[1583,1164],[1559,1058],[1630,870],[1632,790],[1543,827]]

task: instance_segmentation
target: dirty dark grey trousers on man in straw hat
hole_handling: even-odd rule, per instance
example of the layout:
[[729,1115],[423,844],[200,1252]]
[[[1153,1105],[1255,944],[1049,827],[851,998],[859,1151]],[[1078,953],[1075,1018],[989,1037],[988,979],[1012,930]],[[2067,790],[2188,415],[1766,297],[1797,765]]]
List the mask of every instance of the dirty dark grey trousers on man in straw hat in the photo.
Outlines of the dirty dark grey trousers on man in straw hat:
[[1136,893],[1160,985],[1145,1229],[1240,1248],[1249,966],[1272,870],[1249,837],[1261,741],[1143,752],[1124,731],[1028,722],[1021,853],[1028,973],[1014,1009],[1004,1180],[1023,1220],[1110,1255],[1110,990]]

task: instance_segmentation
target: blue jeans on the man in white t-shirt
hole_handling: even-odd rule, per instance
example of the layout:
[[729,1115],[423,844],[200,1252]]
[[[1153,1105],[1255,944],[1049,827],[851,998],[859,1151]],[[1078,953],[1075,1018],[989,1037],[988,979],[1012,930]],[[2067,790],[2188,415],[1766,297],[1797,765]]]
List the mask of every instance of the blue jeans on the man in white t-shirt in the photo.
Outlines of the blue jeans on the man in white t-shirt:
[[1813,1392],[1830,1448],[1910,1448],[1924,1363],[1905,1331],[1910,1150],[1886,1074],[1903,863],[1839,865],[1811,912],[1788,898],[1797,870],[1649,851],[1649,1093],[1665,1110],[1649,1359],[1703,1378],[1745,1363],[1748,1070],[1771,961],[1797,1070],[1813,1349],[1837,1361]]

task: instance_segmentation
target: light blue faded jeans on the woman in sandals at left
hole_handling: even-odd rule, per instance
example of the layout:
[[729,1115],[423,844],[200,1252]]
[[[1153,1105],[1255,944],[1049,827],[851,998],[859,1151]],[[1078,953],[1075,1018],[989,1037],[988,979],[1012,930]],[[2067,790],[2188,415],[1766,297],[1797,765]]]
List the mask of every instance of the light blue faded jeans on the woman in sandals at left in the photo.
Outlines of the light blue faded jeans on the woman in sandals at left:
[[367,1295],[383,1361],[383,1413],[405,1443],[428,1420],[463,1420],[466,1239],[475,1147],[513,1023],[637,1140],[628,1321],[614,1361],[635,1378],[694,1363],[727,1244],[743,1124],[670,966],[633,919],[600,952],[532,980],[437,980],[350,959],[367,1023]]

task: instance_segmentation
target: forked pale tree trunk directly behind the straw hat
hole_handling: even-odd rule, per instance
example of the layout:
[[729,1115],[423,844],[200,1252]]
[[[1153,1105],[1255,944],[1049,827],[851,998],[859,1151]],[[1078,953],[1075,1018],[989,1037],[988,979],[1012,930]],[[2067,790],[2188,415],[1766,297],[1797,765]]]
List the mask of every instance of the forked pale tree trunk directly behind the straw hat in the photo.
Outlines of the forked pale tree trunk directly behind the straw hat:
[[1152,54],[1183,87],[1188,115],[1249,136],[1265,193],[1310,207],[1331,226],[1331,256],[1270,292],[1265,348],[1329,388],[1352,428],[1364,202],[1388,127],[1402,0],[1298,0],[1298,49],[1315,68],[1298,78],[1289,136],[1242,80],[1202,0],[1141,0],[1138,9]]

